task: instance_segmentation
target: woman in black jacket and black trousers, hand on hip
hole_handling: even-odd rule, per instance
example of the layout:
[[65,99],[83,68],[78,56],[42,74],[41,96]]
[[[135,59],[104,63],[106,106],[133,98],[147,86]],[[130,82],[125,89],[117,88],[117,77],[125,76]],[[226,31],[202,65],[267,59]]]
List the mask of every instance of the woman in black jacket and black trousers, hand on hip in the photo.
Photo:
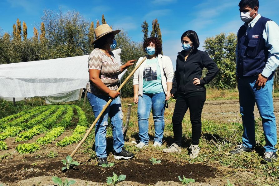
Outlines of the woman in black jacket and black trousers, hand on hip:
[[[184,32],[181,36],[181,42],[184,50],[178,52],[173,85],[170,91],[171,96],[177,98],[172,118],[174,143],[163,151],[166,153],[181,152],[181,123],[189,108],[192,124],[190,158],[196,158],[200,151],[198,144],[202,131],[201,114],[206,95],[204,85],[217,75],[219,69],[207,53],[198,50],[199,41],[195,31]],[[204,67],[208,69],[208,73],[202,78]]]

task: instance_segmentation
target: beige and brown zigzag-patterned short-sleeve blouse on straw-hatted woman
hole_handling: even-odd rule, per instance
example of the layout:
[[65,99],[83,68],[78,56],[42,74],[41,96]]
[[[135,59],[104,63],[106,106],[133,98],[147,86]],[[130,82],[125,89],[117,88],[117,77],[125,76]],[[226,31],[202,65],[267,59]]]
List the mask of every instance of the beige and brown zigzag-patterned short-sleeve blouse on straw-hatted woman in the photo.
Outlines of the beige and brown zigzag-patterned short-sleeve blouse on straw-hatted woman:
[[[116,61],[113,53],[110,51],[110,57],[107,56],[99,48],[95,48],[88,57],[89,69],[100,70],[101,81],[110,89],[116,91],[118,89],[118,75],[121,73],[119,63]],[[87,91],[96,95],[106,95],[98,89],[89,79]]]

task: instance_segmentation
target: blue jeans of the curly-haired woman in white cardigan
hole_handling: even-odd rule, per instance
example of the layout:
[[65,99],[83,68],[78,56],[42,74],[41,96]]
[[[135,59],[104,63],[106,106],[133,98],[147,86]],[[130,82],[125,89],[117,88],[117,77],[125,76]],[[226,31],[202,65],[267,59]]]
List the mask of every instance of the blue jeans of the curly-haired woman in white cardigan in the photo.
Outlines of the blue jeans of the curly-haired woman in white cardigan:
[[154,142],[157,141],[162,144],[164,135],[164,111],[165,111],[165,99],[164,92],[157,94],[143,94],[139,96],[138,102],[138,125],[139,125],[139,137],[140,141],[144,144],[148,144],[148,119],[152,108],[152,115],[154,120],[155,136]]

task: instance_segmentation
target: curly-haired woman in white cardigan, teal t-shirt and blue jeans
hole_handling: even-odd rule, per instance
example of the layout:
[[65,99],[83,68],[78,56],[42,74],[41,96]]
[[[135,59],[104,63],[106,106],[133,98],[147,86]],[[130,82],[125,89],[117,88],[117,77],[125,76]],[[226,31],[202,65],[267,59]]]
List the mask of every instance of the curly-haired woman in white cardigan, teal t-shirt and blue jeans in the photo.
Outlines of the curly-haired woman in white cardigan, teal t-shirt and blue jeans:
[[[145,39],[143,49],[147,59],[134,74],[134,103],[138,104],[140,143],[148,145],[148,119],[152,108],[155,136],[153,146],[161,146],[164,134],[165,103],[169,100],[174,77],[173,65],[168,56],[162,55],[162,43],[157,37]],[[140,57],[137,64],[143,59]]]

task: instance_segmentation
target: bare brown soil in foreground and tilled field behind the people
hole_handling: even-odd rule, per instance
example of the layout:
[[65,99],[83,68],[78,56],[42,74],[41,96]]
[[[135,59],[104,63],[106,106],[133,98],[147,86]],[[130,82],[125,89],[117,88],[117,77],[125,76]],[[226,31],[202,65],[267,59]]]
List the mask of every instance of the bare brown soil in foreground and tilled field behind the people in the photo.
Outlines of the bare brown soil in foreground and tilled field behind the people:
[[[175,103],[170,103],[169,108],[174,109]],[[257,107],[255,106],[255,118],[260,117]],[[274,113],[279,116],[279,98],[274,98]],[[189,111],[187,111],[189,114]],[[238,100],[213,100],[206,101],[203,107],[202,119],[215,120],[218,122],[242,122],[239,115]],[[277,123],[279,120],[277,120]],[[278,127],[278,126],[277,126]],[[4,154],[4,159],[0,159],[0,183],[4,185],[53,185],[52,176],[57,176],[62,179],[76,180],[76,185],[101,185],[106,182],[107,176],[112,176],[112,172],[117,175],[125,174],[126,180],[118,185],[125,186],[141,186],[141,185],[156,185],[156,186],[172,186],[181,185],[178,182],[178,175],[188,176],[196,180],[190,185],[226,185],[227,179],[218,177],[218,169],[204,164],[185,164],[174,161],[171,156],[162,159],[161,164],[152,165],[144,152],[138,153],[134,159],[125,161],[114,161],[110,155],[110,162],[115,162],[112,168],[101,168],[96,166],[96,159],[90,159],[90,154],[83,154],[83,147],[75,155],[74,159],[81,163],[77,168],[70,169],[66,172],[61,171],[63,166],[61,159],[65,159],[67,154],[71,154],[75,149],[76,144],[71,144],[66,147],[56,147],[55,143],[63,139],[65,136],[72,134],[74,127],[69,127],[67,130],[52,144],[41,146],[41,149],[31,154],[19,154],[15,147],[19,143],[15,143],[15,138],[8,138],[5,142],[8,145],[8,150],[1,150],[0,157]],[[278,130],[277,130],[278,132]],[[37,138],[44,136],[35,136],[32,140],[20,143],[32,143]],[[55,158],[47,158],[46,155],[50,151],[57,152]],[[159,154],[158,154],[159,155]],[[165,155],[164,155],[165,156]],[[231,183],[237,185],[238,179],[243,175],[230,177]]]

